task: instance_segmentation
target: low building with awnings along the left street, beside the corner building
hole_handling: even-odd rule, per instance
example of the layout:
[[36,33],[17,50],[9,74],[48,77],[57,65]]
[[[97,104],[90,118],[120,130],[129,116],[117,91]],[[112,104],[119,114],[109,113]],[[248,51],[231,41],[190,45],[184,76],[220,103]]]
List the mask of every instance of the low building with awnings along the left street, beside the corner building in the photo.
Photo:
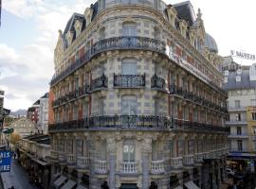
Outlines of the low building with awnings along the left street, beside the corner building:
[[21,139],[16,146],[17,159],[26,168],[29,180],[36,180],[42,188],[49,188],[50,163],[46,156],[50,155],[50,139],[48,135],[35,134]]

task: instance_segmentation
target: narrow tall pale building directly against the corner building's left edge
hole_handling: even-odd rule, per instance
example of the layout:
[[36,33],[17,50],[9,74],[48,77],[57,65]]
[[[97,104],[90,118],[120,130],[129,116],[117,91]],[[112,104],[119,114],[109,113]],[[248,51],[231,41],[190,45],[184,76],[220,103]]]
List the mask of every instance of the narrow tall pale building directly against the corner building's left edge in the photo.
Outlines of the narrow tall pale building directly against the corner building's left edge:
[[49,94],[46,93],[40,98],[39,102],[39,120],[37,123],[37,129],[40,132],[48,133],[48,102]]

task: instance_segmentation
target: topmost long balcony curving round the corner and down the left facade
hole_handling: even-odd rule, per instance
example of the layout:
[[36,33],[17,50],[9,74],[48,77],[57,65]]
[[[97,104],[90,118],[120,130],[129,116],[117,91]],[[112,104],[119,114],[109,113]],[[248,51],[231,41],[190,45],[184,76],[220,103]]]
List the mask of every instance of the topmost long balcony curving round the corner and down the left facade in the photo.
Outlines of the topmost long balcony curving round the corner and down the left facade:
[[75,63],[69,65],[63,72],[61,72],[57,76],[54,76],[51,79],[50,84],[55,85],[56,83],[60,82],[62,79],[64,79],[64,77],[67,77],[70,74],[72,74],[74,71],[79,69],[82,65],[84,65],[86,62],[91,60],[94,56],[98,55],[99,53],[118,49],[141,49],[165,54],[165,43],[161,43],[160,41],[155,39],[137,36],[123,36],[101,40],[98,43],[95,43],[90,49],[88,49],[79,60],[76,60]]

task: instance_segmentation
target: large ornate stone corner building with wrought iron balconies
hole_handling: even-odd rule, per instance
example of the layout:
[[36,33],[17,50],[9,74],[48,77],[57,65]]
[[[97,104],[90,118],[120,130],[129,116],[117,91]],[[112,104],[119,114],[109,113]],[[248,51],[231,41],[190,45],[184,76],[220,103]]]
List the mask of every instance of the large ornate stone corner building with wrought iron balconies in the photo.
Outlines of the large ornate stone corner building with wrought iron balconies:
[[227,94],[201,15],[159,0],[99,0],[72,15],[49,93],[53,175],[92,189],[225,180]]

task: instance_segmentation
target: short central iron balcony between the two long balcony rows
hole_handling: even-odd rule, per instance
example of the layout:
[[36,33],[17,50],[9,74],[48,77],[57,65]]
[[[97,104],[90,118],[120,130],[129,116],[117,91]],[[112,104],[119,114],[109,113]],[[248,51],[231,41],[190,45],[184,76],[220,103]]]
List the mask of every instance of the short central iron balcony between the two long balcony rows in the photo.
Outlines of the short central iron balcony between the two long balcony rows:
[[115,88],[141,88],[145,87],[146,75],[116,75],[114,74]]

